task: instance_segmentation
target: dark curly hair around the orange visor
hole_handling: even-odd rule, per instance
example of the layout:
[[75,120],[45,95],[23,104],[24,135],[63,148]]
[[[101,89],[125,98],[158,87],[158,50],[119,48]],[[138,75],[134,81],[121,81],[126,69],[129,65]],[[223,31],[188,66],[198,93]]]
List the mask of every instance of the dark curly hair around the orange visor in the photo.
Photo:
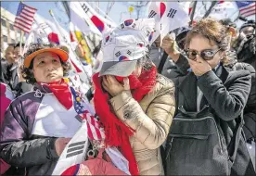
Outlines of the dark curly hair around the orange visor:
[[[53,45],[53,44],[32,44],[32,45],[30,45],[29,50],[24,55],[23,59],[28,57],[29,55],[31,55],[33,52],[36,52],[36,51],[38,51],[40,49],[44,49],[44,48],[50,48],[50,47],[58,48],[58,46]],[[25,67],[21,68],[22,77],[26,80],[26,82],[31,83],[31,84],[34,84],[36,82],[34,75],[32,73],[33,59],[31,61],[31,65],[29,68],[25,68]],[[61,59],[59,59],[59,60],[60,60],[61,66],[63,68],[64,76],[66,76],[71,69],[70,62],[68,62],[68,61],[63,62]]]

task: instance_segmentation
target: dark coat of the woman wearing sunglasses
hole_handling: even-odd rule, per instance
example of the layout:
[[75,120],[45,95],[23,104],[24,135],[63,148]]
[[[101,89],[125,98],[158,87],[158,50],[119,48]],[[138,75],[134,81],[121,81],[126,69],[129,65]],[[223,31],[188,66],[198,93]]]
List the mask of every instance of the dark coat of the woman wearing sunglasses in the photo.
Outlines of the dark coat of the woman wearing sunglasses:
[[[211,106],[216,118],[222,122],[226,144],[230,144],[233,132],[237,128],[237,119],[246,107],[250,94],[250,71],[233,71],[221,64],[215,72],[211,70],[197,78],[193,72],[186,71],[189,68],[186,57],[180,57],[176,65],[184,72],[173,78],[176,88],[176,106],[183,105],[186,111],[196,112],[198,86],[203,93],[200,107],[207,104]],[[179,102],[179,94],[184,95],[183,102]],[[231,174],[255,174],[244,138],[240,140]]]

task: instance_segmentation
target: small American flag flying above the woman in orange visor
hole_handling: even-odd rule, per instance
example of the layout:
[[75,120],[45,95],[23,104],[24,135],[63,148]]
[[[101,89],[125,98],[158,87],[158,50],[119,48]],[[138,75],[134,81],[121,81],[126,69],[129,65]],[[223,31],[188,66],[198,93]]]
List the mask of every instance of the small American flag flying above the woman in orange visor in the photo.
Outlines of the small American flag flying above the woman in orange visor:
[[32,29],[33,16],[36,11],[37,9],[20,2],[14,21],[14,26],[21,31],[29,33]]

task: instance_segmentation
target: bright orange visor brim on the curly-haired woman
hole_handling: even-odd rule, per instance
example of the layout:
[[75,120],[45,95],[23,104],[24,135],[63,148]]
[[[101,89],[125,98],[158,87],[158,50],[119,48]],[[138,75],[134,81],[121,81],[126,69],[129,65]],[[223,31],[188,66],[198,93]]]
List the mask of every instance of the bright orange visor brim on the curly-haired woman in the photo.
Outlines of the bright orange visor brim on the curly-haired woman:
[[67,62],[67,60],[69,59],[69,54],[62,50],[62,49],[58,49],[58,48],[45,48],[45,49],[40,49],[38,51],[33,52],[31,55],[29,55],[28,57],[26,57],[24,59],[24,68],[29,68],[31,66],[31,62],[32,59],[34,57],[36,57],[37,55],[41,54],[41,53],[45,53],[45,52],[51,52],[51,53],[55,53],[58,55],[58,57],[63,61],[63,62]]

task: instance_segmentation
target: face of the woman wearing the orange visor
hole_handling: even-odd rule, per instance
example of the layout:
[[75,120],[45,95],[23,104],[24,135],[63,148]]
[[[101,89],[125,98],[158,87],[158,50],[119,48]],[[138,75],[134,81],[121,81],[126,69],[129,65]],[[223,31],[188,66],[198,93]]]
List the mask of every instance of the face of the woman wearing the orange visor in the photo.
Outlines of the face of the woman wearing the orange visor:
[[33,59],[32,72],[36,82],[58,82],[63,78],[63,68],[58,55],[45,52]]

